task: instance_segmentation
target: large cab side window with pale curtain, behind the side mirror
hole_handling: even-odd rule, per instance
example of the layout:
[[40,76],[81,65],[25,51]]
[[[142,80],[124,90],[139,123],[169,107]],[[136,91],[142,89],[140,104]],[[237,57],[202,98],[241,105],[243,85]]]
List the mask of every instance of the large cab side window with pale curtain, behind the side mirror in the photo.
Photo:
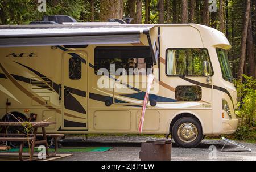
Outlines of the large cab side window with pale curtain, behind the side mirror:
[[204,61],[210,62],[205,48],[167,49],[166,75],[203,76]]

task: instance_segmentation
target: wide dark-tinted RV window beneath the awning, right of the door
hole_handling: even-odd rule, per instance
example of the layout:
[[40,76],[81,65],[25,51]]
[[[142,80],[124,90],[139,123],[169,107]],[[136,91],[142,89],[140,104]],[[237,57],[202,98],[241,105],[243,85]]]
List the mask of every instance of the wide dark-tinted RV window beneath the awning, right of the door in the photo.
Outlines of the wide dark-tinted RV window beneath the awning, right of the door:
[[146,75],[152,64],[149,46],[97,46],[94,50],[94,72],[98,75],[104,71],[109,75]]

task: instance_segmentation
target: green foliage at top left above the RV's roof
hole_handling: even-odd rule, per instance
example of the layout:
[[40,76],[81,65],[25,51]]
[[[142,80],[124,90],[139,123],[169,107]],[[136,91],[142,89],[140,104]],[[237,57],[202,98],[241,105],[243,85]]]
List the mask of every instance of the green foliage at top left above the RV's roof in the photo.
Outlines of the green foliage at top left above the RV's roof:
[[69,15],[80,21],[81,12],[85,12],[84,3],[83,0],[48,0],[46,12],[39,12],[39,3],[35,0],[1,0],[0,24],[28,24],[41,20],[44,15]]

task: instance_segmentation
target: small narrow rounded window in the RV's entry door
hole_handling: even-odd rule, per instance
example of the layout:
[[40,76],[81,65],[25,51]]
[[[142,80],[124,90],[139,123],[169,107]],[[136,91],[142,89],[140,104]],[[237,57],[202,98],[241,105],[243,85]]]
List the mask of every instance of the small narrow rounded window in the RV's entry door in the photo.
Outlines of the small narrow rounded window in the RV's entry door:
[[77,80],[82,76],[82,63],[79,57],[69,59],[69,79]]

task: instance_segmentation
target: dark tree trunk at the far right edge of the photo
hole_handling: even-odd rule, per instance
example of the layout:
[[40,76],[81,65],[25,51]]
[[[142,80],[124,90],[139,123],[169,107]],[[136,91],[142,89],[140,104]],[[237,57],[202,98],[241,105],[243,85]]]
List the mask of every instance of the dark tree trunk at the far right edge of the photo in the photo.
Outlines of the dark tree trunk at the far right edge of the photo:
[[[252,16],[251,16],[252,17]],[[248,35],[247,35],[247,54],[250,64],[250,76],[255,78],[255,54],[254,54],[254,41],[253,41],[253,29],[251,26],[251,17],[248,24]]]

